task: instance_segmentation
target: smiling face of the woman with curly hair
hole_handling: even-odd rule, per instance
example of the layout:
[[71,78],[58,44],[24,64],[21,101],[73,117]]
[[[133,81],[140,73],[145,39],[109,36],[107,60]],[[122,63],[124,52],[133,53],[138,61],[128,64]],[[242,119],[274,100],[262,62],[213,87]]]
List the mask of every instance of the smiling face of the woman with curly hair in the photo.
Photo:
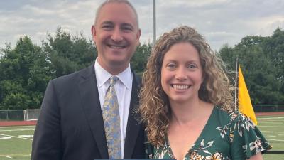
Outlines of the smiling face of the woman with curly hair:
[[203,82],[202,72],[200,55],[191,43],[171,46],[161,68],[161,85],[170,102],[197,100]]

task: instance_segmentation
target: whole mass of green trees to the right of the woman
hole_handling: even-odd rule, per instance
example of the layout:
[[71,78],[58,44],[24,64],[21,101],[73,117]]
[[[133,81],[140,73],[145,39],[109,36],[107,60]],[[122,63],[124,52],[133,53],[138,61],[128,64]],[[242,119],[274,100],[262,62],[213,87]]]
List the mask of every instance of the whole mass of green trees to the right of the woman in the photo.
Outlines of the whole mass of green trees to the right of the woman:
[[284,32],[277,29],[271,37],[246,36],[234,48],[219,50],[229,70],[238,58],[253,105],[284,104],[283,44]]

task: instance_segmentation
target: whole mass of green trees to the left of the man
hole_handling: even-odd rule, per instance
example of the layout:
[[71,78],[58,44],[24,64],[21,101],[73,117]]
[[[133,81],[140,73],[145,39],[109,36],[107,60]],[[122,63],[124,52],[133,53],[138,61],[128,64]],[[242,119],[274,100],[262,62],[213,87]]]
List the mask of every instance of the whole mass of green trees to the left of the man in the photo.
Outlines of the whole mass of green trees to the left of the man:
[[43,45],[18,39],[15,48],[1,49],[0,110],[40,108],[48,81],[87,67],[97,53],[92,41],[58,28]]

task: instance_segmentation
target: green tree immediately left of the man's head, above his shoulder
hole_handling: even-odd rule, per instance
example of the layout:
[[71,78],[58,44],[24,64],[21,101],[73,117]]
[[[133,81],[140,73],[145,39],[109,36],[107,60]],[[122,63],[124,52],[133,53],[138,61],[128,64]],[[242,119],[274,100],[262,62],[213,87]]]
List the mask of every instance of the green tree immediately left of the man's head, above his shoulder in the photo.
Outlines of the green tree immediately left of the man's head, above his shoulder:
[[94,43],[87,41],[82,33],[71,36],[61,28],[54,37],[48,34],[47,41],[43,41],[43,51],[51,63],[53,78],[86,68],[97,56]]

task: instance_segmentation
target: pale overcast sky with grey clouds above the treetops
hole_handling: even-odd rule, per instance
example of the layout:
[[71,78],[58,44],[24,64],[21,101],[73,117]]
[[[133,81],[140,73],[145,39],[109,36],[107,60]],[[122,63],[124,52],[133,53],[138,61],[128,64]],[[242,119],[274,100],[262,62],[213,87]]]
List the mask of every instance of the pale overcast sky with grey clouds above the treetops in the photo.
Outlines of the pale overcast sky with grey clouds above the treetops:
[[[103,0],[0,0],[0,47],[30,36],[40,45],[61,26],[91,38],[97,6]],[[153,41],[152,0],[130,0],[136,7],[141,42]],[[234,46],[244,36],[271,36],[284,28],[284,0],[156,0],[157,37],[177,26],[192,26],[214,50]]]

